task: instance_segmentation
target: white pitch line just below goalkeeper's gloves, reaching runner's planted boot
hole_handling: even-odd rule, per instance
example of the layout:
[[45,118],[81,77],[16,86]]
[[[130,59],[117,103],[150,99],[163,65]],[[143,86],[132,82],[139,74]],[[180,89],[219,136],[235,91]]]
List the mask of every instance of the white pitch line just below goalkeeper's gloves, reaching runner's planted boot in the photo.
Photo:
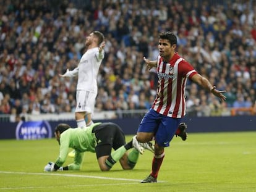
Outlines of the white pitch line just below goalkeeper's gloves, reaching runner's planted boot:
[[104,180],[119,180],[119,181],[130,181],[130,182],[139,182],[140,180],[129,179],[129,178],[113,178],[113,177],[98,177],[98,176],[90,176],[90,175],[72,175],[72,174],[61,174],[61,173],[27,173],[27,172],[6,172],[0,171],[0,173],[7,174],[21,174],[21,175],[51,175],[51,176],[62,176],[62,177],[83,177],[83,178],[98,178]]

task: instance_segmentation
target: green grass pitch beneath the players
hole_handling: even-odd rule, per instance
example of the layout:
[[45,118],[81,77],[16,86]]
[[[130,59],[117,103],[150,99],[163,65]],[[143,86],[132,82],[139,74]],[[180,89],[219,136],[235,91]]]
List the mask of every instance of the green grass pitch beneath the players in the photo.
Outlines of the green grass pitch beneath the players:
[[174,138],[165,150],[158,183],[139,183],[151,170],[149,151],[134,170],[121,170],[117,163],[100,172],[95,154],[87,152],[80,171],[43,172],[58,153],[54,139],[0,140],[0,191],[256,191],[256,132]]

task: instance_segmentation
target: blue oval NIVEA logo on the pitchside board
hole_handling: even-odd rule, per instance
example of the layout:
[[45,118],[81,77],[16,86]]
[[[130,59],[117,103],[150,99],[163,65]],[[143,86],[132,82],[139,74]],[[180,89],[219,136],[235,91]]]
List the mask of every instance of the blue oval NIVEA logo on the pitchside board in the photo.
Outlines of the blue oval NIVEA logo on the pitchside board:
[[38,140],[52,137],[51,125],[47,121],[19,122],[15,131],[17,140]]

